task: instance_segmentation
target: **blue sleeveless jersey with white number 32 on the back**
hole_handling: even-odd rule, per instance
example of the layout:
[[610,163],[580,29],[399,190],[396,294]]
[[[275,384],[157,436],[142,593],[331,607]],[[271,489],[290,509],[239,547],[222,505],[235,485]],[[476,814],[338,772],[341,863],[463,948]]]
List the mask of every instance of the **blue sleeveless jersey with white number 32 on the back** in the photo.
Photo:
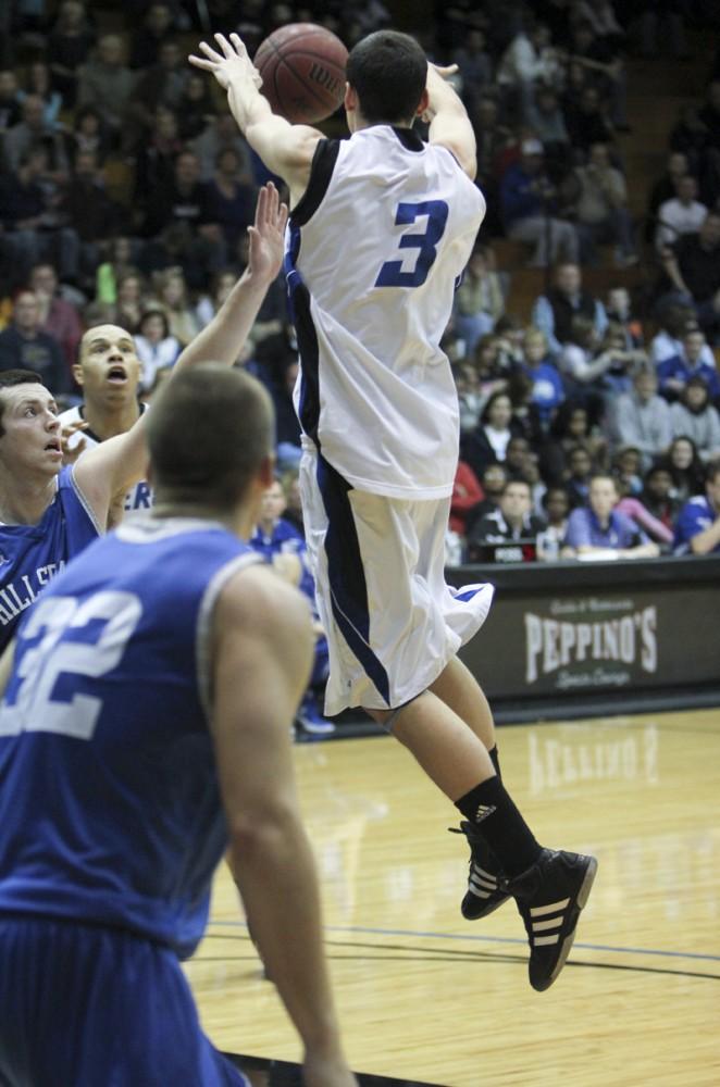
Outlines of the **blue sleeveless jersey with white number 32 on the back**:
[[26,612],[0,708],[0,913],[191,953],[226,845],[212,611],[259,561],[220,525],[142,518],[91,545]]

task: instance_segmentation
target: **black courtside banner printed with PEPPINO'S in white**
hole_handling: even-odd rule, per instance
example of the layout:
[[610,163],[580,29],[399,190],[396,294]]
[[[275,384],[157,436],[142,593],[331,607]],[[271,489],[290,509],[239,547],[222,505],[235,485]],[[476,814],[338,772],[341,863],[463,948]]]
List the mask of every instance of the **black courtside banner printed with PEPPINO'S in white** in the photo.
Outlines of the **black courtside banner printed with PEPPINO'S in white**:
[[488,697],[500,699],[720,684],[720,582],[634,580],[570,591],[498,586],[460,657]]

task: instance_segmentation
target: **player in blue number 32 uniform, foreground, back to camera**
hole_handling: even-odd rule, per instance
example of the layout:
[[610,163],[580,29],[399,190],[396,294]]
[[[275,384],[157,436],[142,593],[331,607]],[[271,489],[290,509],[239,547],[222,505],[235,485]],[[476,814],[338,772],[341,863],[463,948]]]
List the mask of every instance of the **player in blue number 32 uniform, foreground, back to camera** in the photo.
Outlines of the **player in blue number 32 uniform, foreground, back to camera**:
[[305,1082],[355,1083],[287,730],[310,611],[243,542],[273,433],[247,374],[178,375],[148,416],[152,514],[90,545],[18,626],[0,709],[3,1085],[246,1082],[202,1034],[178,962],[226,852]]

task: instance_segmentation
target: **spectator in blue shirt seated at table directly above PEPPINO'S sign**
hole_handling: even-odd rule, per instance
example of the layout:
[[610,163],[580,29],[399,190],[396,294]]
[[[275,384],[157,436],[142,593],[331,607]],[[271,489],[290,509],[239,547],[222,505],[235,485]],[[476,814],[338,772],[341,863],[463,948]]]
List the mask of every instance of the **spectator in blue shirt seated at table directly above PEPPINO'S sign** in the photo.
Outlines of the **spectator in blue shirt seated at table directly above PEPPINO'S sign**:
[[634,521],[616,510],[619,498],[612,476],[593,476],[587,505],[570,514],[564,558],[653,559],[660,553]]

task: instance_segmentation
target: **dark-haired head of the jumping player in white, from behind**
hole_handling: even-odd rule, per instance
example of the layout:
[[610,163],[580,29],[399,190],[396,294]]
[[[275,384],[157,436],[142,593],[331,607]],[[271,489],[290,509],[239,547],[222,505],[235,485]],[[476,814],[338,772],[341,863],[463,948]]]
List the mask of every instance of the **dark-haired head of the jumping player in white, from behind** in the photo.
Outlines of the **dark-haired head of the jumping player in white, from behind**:
[[346,77],[367,121],[407,124],[414,117],[425,89],[427,58],[408,34],[376,30],[350,50]]

